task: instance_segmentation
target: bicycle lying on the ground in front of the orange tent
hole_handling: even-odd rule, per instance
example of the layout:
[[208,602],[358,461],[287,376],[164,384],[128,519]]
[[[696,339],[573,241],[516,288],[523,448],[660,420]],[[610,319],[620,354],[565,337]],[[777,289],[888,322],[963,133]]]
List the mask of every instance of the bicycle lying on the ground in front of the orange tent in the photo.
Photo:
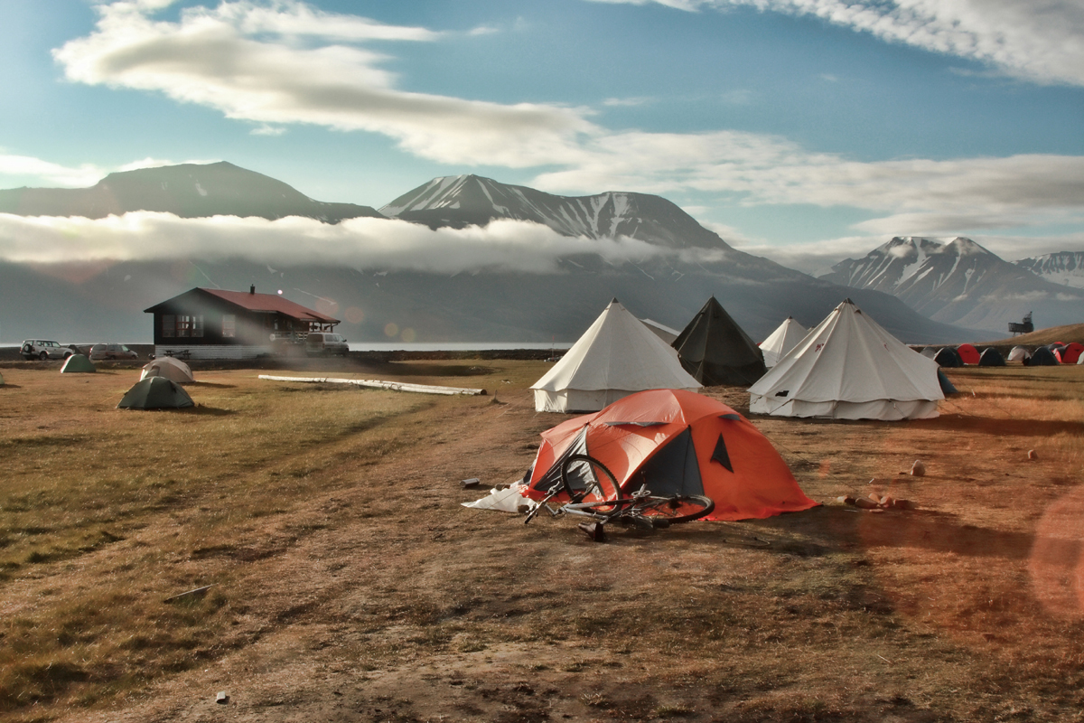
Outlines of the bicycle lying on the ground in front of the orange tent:
[[[577,465],[581,467],[577,478],[582,488],[573,485],[569,474]],[[550,506],[550,501],[562,493],[567,494],[569,501],[559,507]],[[560,465],[560,481],[546,491],[545,496],[527,514],[524,524],[534,519],[543,507],[553,517],[575,515],[592,520],[581,524],[580,529],[596,542],[604,542],[605,526],[609,522],[656,530],[710,515],[715,503],[702,494],[651,494],[646,479],[638,490],[625,496],[606,465],[588,454],[572,454]]]

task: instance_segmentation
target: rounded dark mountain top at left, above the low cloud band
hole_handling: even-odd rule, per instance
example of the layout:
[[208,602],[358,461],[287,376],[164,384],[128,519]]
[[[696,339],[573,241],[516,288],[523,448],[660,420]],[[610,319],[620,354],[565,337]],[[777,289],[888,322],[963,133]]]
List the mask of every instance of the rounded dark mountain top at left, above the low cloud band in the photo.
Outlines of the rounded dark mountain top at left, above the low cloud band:
[[282,181],[225,162],[109,173],[89,189],[0,191],[0,214],[98,219],[139,210],[181,218],[305,216],[327,223],[380,216],[369,206],[313,201]]

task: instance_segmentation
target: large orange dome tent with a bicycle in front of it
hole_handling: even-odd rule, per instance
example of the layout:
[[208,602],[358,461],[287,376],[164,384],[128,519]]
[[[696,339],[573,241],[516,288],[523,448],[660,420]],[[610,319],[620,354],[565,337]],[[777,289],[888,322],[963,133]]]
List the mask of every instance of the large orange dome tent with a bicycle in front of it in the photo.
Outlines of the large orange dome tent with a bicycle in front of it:
[[[757,427],[726,404],[683,389],[649,389],[542,432],[525,495],[541,500],[572,454],[602,462],[627,493],[704,494],[704,519],[764,518],[817,505]],[[558,498],[559,499],[559,498]]]

